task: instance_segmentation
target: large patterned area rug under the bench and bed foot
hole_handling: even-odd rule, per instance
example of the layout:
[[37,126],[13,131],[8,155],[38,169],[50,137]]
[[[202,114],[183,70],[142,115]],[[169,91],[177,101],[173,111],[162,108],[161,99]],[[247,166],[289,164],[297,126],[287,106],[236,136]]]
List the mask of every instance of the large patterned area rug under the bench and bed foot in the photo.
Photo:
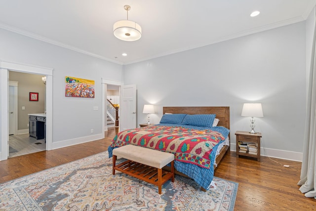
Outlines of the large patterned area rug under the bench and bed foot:
[[116,171],[108,152],[0,184],[0,211],[233,211],[238,183],[214,177],[207,192],[176,175],[158,187]]

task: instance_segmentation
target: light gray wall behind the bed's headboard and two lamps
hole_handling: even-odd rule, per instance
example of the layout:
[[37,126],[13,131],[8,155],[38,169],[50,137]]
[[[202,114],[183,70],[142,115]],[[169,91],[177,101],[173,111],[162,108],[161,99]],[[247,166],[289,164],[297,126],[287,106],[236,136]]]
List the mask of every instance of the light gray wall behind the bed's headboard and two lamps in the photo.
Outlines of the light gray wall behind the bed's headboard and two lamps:
[[[144,104],[230,106],[231,142],[250,130],[242,104],[260,102],[262,154],[301,160],[306,107],[305,22],[124,66],[125,84],[137,84],[138,124]],[[176,42],[176,41],[175,41]]]

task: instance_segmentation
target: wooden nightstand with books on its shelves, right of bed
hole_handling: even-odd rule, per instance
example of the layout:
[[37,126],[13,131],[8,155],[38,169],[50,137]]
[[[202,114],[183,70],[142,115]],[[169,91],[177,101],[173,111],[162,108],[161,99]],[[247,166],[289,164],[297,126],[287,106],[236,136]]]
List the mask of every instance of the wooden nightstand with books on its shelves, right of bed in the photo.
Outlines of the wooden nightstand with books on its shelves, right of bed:
[[260,161],[260,132],[249,133],[246,131],[236,131],[236,154],[257,158]]

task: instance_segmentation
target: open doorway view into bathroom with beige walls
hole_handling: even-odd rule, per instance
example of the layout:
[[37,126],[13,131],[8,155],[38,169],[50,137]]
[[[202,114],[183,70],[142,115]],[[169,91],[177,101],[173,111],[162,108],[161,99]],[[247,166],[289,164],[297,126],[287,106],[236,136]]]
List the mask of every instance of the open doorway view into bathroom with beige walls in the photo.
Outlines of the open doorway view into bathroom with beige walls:
[[29,119],[29,114],[37,114],[40,121],[45,121],[46,87],[42,77],[9,71],[9,158],[46,150],[45,135],[30,135],[30,128],[35,134],[40,130],[45,134],[45,122],[36,128],[36,122]]

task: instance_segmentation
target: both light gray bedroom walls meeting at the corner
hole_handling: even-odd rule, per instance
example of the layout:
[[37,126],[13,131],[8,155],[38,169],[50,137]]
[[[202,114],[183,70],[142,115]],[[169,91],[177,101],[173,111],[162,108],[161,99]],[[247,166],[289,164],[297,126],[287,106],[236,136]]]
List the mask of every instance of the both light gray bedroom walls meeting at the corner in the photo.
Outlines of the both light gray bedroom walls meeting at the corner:
[[[306,43],[300,22],[122,67],[0,29],[0,59],[53,68],[53,142],[87,137],[90,128],[103,132],[101,79],[108,79],[137,85],[138,124],[146,123],[148,103],[156,105],[152,123],[162,106],[230,106],[233,144],[236,130],[250,129],[242,104],[261,102],[262,153],[289,158],[280,153],[296,155],[303,147]],[[65,76],[95,80],[95,98],[66,98]]]

